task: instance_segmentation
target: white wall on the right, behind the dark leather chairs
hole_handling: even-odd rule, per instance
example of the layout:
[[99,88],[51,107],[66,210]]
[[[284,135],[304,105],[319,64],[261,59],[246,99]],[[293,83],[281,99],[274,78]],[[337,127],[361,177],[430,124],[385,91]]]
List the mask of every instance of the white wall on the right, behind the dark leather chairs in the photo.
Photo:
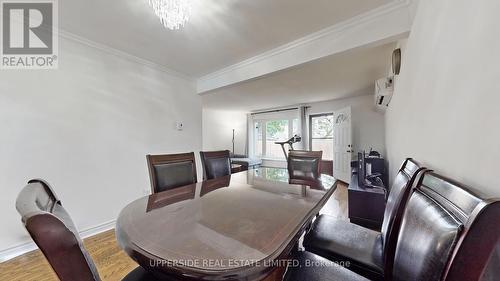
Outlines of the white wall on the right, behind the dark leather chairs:
[[500,196],[500,1],[421,0],[386,114],[404,157]]

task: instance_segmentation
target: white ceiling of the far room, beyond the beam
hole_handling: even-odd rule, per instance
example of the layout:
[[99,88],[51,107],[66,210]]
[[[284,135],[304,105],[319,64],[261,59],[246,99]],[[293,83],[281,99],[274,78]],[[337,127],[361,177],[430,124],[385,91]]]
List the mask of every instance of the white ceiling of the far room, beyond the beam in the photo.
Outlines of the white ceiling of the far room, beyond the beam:
[[394,43],[350,50],[202,95],[203,108],[253,111],[372,93]]

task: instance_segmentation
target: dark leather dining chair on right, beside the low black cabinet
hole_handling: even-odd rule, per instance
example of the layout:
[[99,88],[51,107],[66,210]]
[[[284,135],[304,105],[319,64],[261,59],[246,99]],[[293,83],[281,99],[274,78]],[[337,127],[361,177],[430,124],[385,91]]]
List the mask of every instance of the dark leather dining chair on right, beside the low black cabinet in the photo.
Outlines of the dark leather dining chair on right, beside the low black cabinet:
[[304,237],[305,249],[331,260],[348,260],[352,270],[373,279],[383,279],[384,272],[391,270],[384,267],[392,264],[391,257],[411,186],[423,170],[411,158],[403,162],[389,192],[381,232],[320,215]]

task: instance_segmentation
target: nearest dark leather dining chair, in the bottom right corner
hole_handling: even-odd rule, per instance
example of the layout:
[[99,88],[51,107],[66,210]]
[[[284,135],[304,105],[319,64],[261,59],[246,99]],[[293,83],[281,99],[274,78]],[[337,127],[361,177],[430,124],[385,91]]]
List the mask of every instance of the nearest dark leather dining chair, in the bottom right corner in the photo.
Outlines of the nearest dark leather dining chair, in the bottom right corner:
[[[391,272],[384,280],[495,280],[500,274],[495,257],[500,199],[486,200],[431,171],[419,174],[391,253]],[[283,280],[373,280],[310,252],[298,252],[295,259],[298,264]]]

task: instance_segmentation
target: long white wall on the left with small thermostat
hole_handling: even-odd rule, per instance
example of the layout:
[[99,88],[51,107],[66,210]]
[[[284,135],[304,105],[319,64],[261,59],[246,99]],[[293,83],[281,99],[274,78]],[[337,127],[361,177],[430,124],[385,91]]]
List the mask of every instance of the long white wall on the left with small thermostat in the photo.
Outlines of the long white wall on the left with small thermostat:
[[194,83],[66,39],[59,50],[59,70],[0,71],[0,251],[30,241],[15,209],[30,178],[85,230],[149,192],[147,153],[201,149]]

